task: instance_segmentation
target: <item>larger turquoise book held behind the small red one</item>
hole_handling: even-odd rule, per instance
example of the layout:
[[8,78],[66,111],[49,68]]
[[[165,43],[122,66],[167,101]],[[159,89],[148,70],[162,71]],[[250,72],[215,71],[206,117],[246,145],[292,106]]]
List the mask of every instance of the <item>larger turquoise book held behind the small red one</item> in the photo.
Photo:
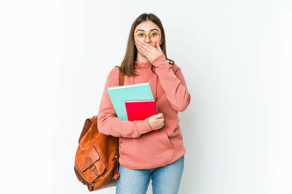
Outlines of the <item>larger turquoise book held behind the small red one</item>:
[[117,117],[123,121],[128,121],[126,101],[154,99],[149,83],[109,87],[108,93]]

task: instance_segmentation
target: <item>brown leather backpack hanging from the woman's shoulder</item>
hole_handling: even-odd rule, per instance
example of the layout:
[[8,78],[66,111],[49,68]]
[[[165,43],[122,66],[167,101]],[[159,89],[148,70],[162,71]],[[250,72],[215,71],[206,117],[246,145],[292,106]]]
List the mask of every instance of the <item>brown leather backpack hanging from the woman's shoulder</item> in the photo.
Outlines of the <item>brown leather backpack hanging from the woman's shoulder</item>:
[[[122,86],[125,77],[118,68]],[[87,185],[89,191],[116,186],[120,176],[119,139],[100,133],[97,116],[94,116],[86,119],[78,143],[74,166],[78,180]]]

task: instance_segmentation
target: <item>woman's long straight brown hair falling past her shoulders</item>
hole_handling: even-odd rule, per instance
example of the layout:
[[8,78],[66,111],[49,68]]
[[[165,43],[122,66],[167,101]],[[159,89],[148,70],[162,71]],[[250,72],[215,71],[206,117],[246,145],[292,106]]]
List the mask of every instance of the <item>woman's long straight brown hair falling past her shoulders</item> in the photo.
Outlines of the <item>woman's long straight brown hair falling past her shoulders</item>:
[[[135,64],[134,61],[137,58],[137,48],[135,46],[135,40],[134,40],[134,30],[135,28],[142,23],[143,21],[146,20],[150,20],[153,23],[155,23],[161,30],[161,34],[162,34],[162,45],[160,45],[161,50],[163,51],[166,60],[168,61],[169,64],[173,65],[174,61],[171,59],[168,59],[166,56],[166,46],[165,46],[165,33],[164,33],[164,28],[162,26],[162,22],[160,21],[160,19],[155,16],[154,14],[141,14],[138,18],[135,19],[135,21],[133,22],[132,26],[131,26],[131,30],[130,30],[130,34],[128,37],[128,43],[127,43],[127,50],[126,50],[126,54],[124,56],[124,59],[121,63],[121,70],[123,72],[124,75],[128,75],[128,76],[136,76],[137,74],[135,73]],[[153,71],[153,65],[151,65],[151,71]],[[155,72],[154,72],[155,73]]]

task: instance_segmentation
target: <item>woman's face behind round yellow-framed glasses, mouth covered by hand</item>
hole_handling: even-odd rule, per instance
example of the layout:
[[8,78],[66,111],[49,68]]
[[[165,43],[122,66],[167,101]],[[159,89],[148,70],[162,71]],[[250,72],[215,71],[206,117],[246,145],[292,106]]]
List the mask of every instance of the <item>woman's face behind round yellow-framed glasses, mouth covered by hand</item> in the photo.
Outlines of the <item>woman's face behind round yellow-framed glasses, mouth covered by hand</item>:
[[[159,34],[161,34],[161,29],[155,23],[153,23],[152,21],[146,20],[146,21],[141,22],[135,28],[134,34],[137,34],[139,32],[140,33],[144,33],[144,34],[151,34],[151,33],[159,33]],[[142,56],[145,56],[143,54],[143,52],[141,51],[141,49],[139,48],[139,44],[138,44],[139,41],[136,39],[136,37],[134,37],[134,40],[135,40],[135,45],[136,45],[136,48],[137,48],[138,52]],[[159,44],[162,44],[162,35],[160,36],[158,41],[160,41]],[[149,35],[146,36],[145,42],[156,48],[156,42],[157,41],[155,41],[155,42],[151,41],[150,38],[149,38]]]

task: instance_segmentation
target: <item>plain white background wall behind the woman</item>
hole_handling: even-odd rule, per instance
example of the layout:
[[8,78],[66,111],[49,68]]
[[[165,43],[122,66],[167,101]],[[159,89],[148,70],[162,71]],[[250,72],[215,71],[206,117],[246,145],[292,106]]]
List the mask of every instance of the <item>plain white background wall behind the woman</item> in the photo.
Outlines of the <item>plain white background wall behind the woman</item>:
[[192,96],[180,194],[291,194],[291,0],[1,1],[0,193],[89,193],[77,141],[144,12]]

